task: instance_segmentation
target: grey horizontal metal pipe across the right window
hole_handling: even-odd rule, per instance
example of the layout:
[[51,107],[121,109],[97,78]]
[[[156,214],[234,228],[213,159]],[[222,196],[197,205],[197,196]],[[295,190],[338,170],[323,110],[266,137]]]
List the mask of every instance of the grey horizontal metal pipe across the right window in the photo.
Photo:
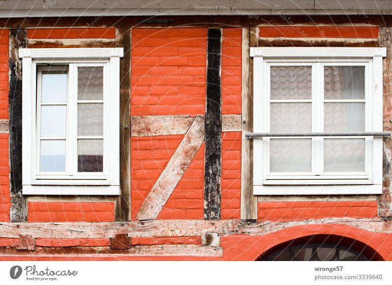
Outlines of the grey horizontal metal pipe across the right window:
[[391,132],[248,132],[245,134],[246,139],[276,136],[383,136],[389,138]]

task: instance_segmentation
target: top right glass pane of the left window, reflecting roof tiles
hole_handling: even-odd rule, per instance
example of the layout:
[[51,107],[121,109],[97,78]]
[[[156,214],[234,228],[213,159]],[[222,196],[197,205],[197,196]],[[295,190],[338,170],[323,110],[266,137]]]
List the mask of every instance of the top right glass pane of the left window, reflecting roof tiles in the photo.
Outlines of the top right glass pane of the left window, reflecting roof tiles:
[[103,67],[79,67],[77,83],[78,100],[103,99]]

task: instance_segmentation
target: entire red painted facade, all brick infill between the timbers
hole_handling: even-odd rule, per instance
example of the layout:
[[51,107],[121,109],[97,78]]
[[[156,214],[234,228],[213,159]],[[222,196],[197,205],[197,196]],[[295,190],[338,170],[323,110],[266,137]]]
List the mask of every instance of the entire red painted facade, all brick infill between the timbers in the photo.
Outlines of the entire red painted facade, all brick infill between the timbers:
[[[378,27],[260,27],[265,38],[378,37]],[[320,34],[320,32],[322,33]],[[306,36],[304,36],[304,33]],[[322,36],[322,34],[324,36]],[[133,28],[131,37],[131,116],[205,113],[207,28]],[[0,34],[0,119],[8,119],[8,30]],[[28,29],[28,39],[113,39],[115,28]],[[45,47],[45,46],[44,46]],[[99,47],[99,46],[97,46]],[[222,115],[242,113],[242,29],[222,29]],[[165,169],[184,135],[131,137],[131,220],[136,220],[145,198]],[[221,219],[241,218],[241,132],[221,133]],[[0,133],[0,221],[10,220],[8,134]],[[197,151],[157,219],[203,219],[204,144]],[[113,199],[107,202],[32,200],[27,203],[27,222],[115,221]],[[376,200],[264,201],[257,204],[257,219],[284,222],[324,218],[376,218]],[[282,242],[314,235],[334,235],[356,241],[375,260],[392,260],[392,234],[370,232],[340,224],[297,225],[261,236],[222,236],[222,257],[78,257],[72,260],[255,260]],[[108,247],[105,239],[36,238],[36,247]],[[18,239],[0,238],[0,247],[16,248]],[[132,245],[194,244],[201,237],[135,237]],[[0,249],[1,250],[1,249]],[[377,254],[375,254],[376,252]],[[6,260],[63,260],[63,257],[0,257]]]

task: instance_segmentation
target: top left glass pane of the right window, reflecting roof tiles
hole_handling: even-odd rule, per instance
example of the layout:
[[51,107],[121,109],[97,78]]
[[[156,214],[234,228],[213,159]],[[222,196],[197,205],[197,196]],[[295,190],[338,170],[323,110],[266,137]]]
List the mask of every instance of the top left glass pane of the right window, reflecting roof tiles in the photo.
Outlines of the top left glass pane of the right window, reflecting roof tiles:
[[271,66],[270,99],[312,99],[312,66]]

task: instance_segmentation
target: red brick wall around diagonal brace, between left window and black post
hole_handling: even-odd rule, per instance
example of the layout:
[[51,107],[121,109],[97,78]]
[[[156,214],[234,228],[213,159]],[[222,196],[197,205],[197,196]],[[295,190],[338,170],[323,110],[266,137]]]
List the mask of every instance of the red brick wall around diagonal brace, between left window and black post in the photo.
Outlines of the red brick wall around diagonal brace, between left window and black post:
[[[131,115],[205,113],[205,28],[132,29]],[[131,216],[165,169],[184,135],[131,139]],[[204,145],[157,219],[203,219]]]

